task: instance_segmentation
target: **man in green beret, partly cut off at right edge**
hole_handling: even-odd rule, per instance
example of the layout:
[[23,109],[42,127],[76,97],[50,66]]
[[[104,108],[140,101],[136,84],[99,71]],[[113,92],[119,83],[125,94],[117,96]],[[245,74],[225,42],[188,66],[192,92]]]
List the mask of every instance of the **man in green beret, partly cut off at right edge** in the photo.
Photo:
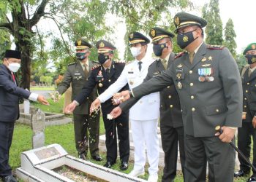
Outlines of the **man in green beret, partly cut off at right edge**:
[[[249,159],[251,154],[251,137],[253,139],[253,145],[256,143],[256,43],[249,44],[244,50],[244,55],[248,65],[241,69],[244,116],[242,127],[238,128],[238,149]],[[256,167],[255,146],[253,146],[253,148],[252,165]],[[249,175],[251,167],[239,155],[238,159],[240,162],[240,170],[238,170],[234,176]],[[252,170],[252,172],[253,175],[248,181],[256,181],[256,171]]]

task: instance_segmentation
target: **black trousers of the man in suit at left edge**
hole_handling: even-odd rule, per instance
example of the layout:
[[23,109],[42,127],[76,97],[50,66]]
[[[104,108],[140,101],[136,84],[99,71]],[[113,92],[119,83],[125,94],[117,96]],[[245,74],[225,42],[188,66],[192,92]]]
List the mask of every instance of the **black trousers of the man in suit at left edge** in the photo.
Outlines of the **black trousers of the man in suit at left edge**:
[[0,176],[12,174],[9,165],[9,151],[12,145],[12,135],[15,122],[0,122]]

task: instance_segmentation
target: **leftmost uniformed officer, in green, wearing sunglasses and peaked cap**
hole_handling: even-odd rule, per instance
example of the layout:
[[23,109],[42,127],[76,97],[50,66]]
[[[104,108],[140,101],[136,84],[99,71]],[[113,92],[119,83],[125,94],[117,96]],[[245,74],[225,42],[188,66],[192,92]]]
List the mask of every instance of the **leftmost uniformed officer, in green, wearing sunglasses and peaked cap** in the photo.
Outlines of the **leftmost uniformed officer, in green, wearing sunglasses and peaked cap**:
[[[81,92],[83,85],[91,74],[91,68],[98,65],[96,62],[89,61],[91,44],[83,39],[79,39],[75,41],[75,46],[78,61],[69,64],[64,74],[64,79],[57,88],[59,94],[62,95],[71,84],[72,100]],[[96,89],[94,89],[94,92],[91,92],[86,102],[73,111],[75,146],[80,159],[86,159],[89,146],[91,157],[101,161],[102,157],[99,156],[99,112],[93,116],[89,115],[91,102],[95,98],[97,98]]]

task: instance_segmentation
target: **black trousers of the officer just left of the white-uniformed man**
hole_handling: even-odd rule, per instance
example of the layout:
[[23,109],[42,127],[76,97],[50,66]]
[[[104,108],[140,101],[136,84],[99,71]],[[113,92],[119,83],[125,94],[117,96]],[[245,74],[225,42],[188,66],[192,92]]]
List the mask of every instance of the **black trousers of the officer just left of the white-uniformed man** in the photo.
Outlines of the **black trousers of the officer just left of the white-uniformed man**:
[[129,112],[124,112],[116,119],[107,119],[103,114],[103,121],[106,135],[107,161],[116,163],[117,158],[117,137],[121,162],[129,160]]

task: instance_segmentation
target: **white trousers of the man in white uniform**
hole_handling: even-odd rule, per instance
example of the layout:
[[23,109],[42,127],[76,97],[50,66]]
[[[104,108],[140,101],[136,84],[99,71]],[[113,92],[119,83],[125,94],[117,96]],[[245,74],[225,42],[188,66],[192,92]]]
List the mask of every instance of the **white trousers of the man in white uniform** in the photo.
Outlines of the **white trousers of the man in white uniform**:
[[132,127],[132,139],[135,146],[135,165],[133,169],[144,171],[147,154],[149,163],[148,173],[150,175],[157,174],[159,162],[157,119],[146,121],[130,119],[130,122]]

